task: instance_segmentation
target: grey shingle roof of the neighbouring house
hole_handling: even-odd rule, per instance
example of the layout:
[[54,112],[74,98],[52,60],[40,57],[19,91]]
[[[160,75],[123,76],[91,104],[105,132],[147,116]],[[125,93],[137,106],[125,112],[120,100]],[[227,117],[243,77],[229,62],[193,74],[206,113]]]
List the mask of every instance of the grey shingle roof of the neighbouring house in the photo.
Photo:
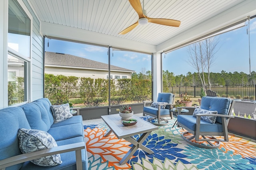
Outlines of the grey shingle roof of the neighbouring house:
[[[53,53],[53,52],[47,52],[47,51],[45,52],[45,64],[108,70],[108,64],[105,64],[105,63],[85,59],[82,57],[77,57],[74,55]],[[113,66],[113,65],[110,65],[110,70],[119,70],[119,71],[122,70],[122,71],[128,71],[128,72],[135,72],[134,70],[129,70],[126,68]]]

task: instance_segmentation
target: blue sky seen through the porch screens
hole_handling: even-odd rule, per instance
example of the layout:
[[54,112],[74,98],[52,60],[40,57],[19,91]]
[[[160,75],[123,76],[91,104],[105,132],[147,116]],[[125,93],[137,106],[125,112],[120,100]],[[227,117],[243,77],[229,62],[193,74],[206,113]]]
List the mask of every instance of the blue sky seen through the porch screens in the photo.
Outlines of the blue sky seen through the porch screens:
[[[219,51],[210,68],[211,72],[244,72],[249,74],[249,43],[246,29],[242,27],[218,35]],[[108,48],[46,39],[46,51],[65,53],[84,57],[102,63],[108,63]],[[172,51],[163,57],[163,70],[173,72],[175,75],[186,75],[196,70],[188,64],[188,47]],[[250,21],[250,59],[251,71],[256,71],[256,18]],[[137,73],[151,70],[151,55],[134,53],[130,51],[111,51],[110,64],[120,66]]]

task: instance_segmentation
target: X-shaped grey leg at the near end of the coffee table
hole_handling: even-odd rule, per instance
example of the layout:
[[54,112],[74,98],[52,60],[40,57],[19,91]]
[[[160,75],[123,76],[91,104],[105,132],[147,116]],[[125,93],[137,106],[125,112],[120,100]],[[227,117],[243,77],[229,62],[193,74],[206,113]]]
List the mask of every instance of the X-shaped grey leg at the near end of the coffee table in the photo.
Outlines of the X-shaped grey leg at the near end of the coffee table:
[[144,145],[142,145],[142,143],[146,140],[146,138],[148,137],[148,135],[150,135],[151,132],[147,132],[147,133],[143,133],[141,135],[141,137],[138,139],[138,141],[136,141],[135,139],[133,139],[132,137],[127,137],[124,138],[126,141],[130,142],[133,144],[132,148],[126,153],[126,155],[122,158],[122,160],[120,160],[120,165],[125,164],[131,157],[132,155],[136,152],[136,150],[138,148],[144,150],[145,152],[147,152],[148,154],[152,154],[154,153],[152,150],[148,149],[147,147],[145,147]]

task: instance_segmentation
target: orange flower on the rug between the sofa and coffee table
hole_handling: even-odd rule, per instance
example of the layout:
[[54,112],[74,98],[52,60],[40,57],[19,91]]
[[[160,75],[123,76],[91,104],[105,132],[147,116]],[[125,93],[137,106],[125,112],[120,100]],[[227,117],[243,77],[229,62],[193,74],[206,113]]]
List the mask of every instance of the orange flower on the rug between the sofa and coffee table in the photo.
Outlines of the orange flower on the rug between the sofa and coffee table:
[[[87,152],[90,152],[95,158],[101,157],[102,162],[108,161],[108,166],[114,166],[115,169],[131,168],[130,164],[120,165],[120,160],[130,150],[130,144],[124,139],[118,139],[114,133],[104,137],[106,130],[95,127],[84,130],[84,139]],[[88,155],[88,157],[90,157]],[[132,156],[131,158],[133,158]]]

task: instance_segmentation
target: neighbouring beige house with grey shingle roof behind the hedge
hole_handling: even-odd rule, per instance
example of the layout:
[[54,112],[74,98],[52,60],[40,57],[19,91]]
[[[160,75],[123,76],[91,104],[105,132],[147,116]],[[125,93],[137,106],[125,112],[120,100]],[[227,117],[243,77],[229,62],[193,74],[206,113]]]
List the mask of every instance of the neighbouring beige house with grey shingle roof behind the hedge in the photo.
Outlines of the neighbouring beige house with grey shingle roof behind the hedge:
[[[45,52],[45,73],[64,76],[108,78],[108,64],[69,54]],[[133,70],[110,65],[110,78],[131,78]]]

